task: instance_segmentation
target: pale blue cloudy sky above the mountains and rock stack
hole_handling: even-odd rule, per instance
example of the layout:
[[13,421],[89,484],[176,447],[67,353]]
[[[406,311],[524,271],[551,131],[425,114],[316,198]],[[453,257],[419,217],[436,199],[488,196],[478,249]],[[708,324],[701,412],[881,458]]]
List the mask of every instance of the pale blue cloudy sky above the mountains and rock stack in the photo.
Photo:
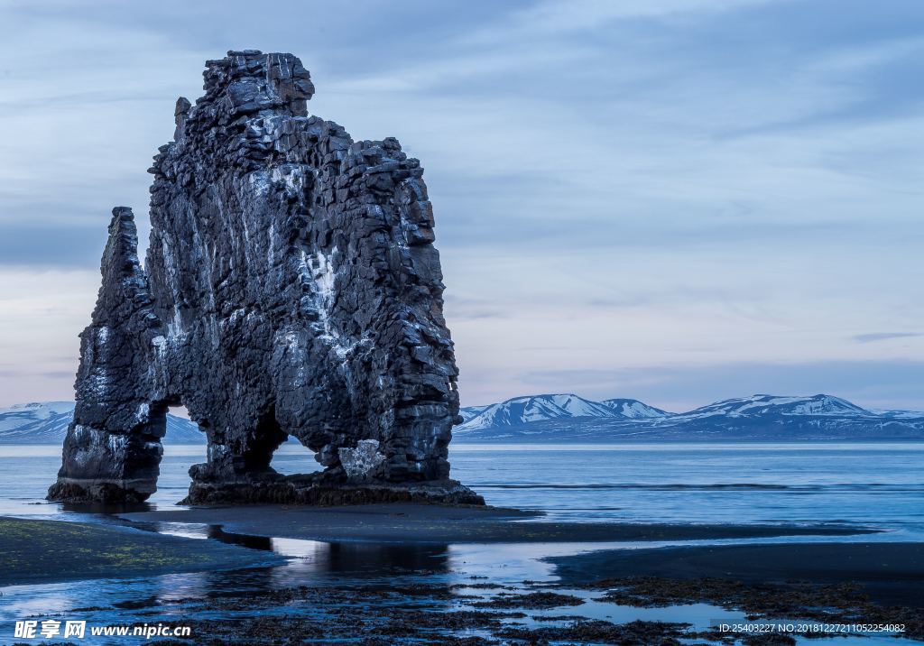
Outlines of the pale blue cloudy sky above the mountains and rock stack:
[[291,52],[424,166],[463,405],[924,410],[918,0],[0,0],[0,406],[73,396],[176,97]]

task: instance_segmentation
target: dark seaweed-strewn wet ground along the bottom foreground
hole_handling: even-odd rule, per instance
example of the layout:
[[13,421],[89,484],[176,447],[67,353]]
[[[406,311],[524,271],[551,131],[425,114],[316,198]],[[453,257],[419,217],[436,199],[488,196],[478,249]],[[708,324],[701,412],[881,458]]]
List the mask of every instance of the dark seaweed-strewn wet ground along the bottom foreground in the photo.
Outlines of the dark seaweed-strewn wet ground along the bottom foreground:
[[[357,585],[292,586],[263,591],[213,591],[207,598],[152,596],[111,610],[132,621],[191,626],[189,640],[165,644],[794,644],[789,634],[741,635],[694,629],[673,621],[617,623],[581,614],[596,604],[667,607],[710,603],[748,620],[903,623],[906,638],[924,640],[920,610],[870,603],[856,586],[746,584],[730,579],[602,579],[573,584],[524,581],[455,584],[427,577]],[[98,608],[75,608],[89,611]],[[549,614],[559,610],[560,614]],[[173,617],[165,620],[166,617]],[[128,620],[127,620],[128,622]],[[803,637],[819,637],[804,632]],[[67,643],[67,642],[55,642]],[[75,642],[77,643],[77,642]],[[834,642],[836,643],[836,642]],[[896,641],[896,643],[900,643]]]

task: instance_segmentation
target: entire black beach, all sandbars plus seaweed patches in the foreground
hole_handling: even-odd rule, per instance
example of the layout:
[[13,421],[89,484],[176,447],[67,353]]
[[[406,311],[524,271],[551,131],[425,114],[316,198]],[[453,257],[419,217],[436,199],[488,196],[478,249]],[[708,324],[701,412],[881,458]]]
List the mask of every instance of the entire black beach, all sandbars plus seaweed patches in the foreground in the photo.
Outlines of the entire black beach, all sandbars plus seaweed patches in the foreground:
[[[438,551],[441,543],[772,539],[872,532],[833,525],[568,523],[538,520],[540,515],[515,509],[405,504],[201,507],[120,516],[146,527],[156,522],[207,525],[211,530],[221,526],[240,538],[304,539],[357,547],[376,542],[417,543],[420,549]],[[215,535],[214,531],[209,535]],[[0,519],[0,548],[0,585],[130,578],[286,562],[265,551],[267,548],[246,550],[213,540],[107,525],[18,518]],[[407,545],[400,548],[409,549]],[[708,603],[768,619],[900,621],[908,627],[906,637],[924,638],[918,618],[921,604],[917,592],[924,581],[924,546],[920,543],[788,542],[606,549],[544,560],[554,564],[560,580],[516,579],[498,584],[473,577],[450,584],[439,571],[420,562],[407,570],[409,579],[391,579],[384,586],[361,579],[345,584],[309,579],[313,582],[304,585],[294,579],[272,587],[257,583],[255,588],[244,585],[228,589],[219,582],[217,594],[154,595],[98,610],[107,617],[126,617],[127,622],[138,620],[123,615],[132,609],[147,613],[145,616],[196,616],[194,642],[216,644],[279,643],[292,635],[336,642],[355,639],[358,631],[365,635],[361,643],[376,645],[403,642],[408,636],[426,643],[465,646],[544,641],[675,644],[688,639],[731,643],[727,634],[701,628],[698,632],[686,623],[618,623],[582,616],[581,607],[591,601],[623,607]],[[581,590],[583,596],[575,596]],[[284,620],[275,615],[282,607],[286,608]],[[541,616],[559,608],[567,615],[557,620]],[[216,612],[234,618],[208,618]]]

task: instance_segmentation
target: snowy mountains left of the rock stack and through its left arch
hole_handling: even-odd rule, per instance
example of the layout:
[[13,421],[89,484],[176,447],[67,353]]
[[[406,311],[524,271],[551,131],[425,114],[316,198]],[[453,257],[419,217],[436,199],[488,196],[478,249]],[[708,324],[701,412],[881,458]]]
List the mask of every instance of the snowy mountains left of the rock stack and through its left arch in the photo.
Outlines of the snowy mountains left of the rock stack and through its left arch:
[[[0,445],[60,445],[74,416],[74,402],[45,401],[0,408]],[[192,421],[167,414],[164,442],[205,444],[205,434]]]

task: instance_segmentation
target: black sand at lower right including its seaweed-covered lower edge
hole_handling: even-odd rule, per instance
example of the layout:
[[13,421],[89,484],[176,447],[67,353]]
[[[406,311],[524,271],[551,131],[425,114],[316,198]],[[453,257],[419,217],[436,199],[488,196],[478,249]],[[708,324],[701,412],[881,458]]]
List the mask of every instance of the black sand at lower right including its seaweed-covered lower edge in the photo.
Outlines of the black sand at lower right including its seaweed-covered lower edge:
[[[545,560],[555,565],[558,585],[601,591],[599,599],[609,603],[648,608],[709,603],[757,622],[893,626],[901,627],[901,637],[924,640],[924,543],[667,547]],[[820,637],[810,630],[796,634]],[[729,635],[712,631],[701,637]],[[760,643],[795,643],[790,636],[765,637],[785,640]]]

